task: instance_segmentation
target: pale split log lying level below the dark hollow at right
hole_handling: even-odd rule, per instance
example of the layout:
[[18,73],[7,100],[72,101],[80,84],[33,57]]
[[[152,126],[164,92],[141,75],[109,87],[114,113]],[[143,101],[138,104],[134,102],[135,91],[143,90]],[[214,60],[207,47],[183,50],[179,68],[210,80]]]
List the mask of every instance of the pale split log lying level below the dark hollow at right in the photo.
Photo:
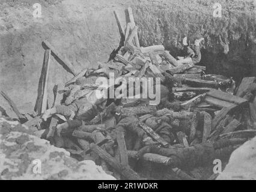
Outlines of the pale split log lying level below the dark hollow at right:
[[197,88],[218,88],[218,83],[211,80],[184,78],[183,83]]

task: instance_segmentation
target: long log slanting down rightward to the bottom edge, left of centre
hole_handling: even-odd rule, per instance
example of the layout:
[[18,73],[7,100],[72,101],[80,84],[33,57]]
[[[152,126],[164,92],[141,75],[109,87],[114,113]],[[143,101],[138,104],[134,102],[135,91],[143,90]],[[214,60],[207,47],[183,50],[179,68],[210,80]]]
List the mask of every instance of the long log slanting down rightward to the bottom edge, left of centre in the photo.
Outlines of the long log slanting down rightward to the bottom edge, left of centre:
[[100,148],[97,145],[91,146],[91,150],[99,155],[106,163],[108,163],[111,167],[117,170],[118,173],[123,175],[126,179],[129,180],[142,180],[142,178],[136,173],[134,170],[130,169],[130,167],[122,167],[120,163],[115,160],[114,157],[109,155],[105,150]]

